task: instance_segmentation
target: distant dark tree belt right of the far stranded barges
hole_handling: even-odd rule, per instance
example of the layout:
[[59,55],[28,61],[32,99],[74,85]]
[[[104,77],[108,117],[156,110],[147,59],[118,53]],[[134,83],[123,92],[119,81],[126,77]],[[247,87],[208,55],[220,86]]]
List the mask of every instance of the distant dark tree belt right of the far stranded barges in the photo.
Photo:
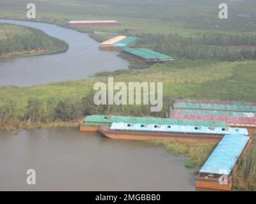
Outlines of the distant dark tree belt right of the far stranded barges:
[[256,60],[256,34],[140,34],[139,44],[177,58],[214,61]]

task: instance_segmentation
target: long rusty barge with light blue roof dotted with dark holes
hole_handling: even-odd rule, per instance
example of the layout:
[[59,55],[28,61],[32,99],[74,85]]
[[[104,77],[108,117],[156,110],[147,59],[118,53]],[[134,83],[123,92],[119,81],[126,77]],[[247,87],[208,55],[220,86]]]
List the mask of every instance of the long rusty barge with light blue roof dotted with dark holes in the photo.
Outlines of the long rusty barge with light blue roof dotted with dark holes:
[[165,140],[177,142],[220,142],[225,135],[248,135],[244,128],[212,128],[204,126],[177,126],[158,124],[129,124],[118,122],[99,128],[100,133],[112,139]]

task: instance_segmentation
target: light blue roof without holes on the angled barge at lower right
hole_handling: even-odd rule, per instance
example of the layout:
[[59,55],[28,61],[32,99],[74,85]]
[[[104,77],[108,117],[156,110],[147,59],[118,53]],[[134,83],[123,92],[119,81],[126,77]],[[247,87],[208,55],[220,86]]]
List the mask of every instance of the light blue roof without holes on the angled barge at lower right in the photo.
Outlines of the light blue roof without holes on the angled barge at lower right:
[[226,135],[207,159],[200,173],[230,174],[246,147],[248,136]]

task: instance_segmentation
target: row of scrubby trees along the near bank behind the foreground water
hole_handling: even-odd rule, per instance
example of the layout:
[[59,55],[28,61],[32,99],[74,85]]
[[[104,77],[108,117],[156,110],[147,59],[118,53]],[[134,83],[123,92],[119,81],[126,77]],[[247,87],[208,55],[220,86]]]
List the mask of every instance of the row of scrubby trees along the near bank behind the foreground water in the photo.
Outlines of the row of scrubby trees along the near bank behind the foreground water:
[[10,124],[13,121],[19,122],[68,122],[81,119],[86,115],[134,115],[134,116],[154,116],[165,117],[169,111],[172,98],[163,99],[162,112],[150,112],[150,105],[95,105],[93,102],[94,92],[90,92],[83,98],[67,97],[63,99],[48,98],[40,100],[38,98],[29,98],[26,108],[17,107],[11,98],[0,98],[0,123]]

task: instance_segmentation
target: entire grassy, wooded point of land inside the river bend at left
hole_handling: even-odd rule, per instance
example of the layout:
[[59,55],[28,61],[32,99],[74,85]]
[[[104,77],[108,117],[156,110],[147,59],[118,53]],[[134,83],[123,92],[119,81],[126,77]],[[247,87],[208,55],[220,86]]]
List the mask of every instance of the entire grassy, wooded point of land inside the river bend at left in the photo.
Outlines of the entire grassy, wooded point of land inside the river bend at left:
[[20,25],[0,24],[0,58],[65,52],[67,43],[42,31]]

